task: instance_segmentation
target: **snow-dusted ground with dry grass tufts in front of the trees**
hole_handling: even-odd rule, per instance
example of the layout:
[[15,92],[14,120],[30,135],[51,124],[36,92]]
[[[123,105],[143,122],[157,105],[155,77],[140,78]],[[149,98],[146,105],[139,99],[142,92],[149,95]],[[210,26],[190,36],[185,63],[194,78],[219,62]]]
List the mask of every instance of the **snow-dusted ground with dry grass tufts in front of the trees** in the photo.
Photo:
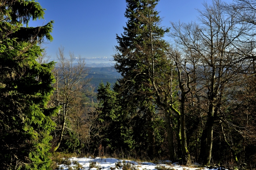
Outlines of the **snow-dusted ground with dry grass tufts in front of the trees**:
[[[63,158],[64,159],[64,158]],[[202,167],[195,165],[181,166],[171,161],[137,162],[114,158],[69,158],[69,163],[59,165],[58,169],[72,170],[227,170],[221,167]],[[69,164],[69,165],[67,165]]]

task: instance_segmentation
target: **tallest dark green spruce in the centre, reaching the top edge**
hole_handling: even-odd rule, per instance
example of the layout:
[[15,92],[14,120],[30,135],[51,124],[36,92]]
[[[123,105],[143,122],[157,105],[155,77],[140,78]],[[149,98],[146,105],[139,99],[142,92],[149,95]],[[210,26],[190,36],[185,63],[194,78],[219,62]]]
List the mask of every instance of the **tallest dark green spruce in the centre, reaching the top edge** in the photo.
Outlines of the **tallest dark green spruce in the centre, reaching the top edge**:
[[[169,30],[159,26],[161,19],[155,10],[158,1],[126,0],[127,24],[124,33],[117,35],[117,52],[113,56],[115,69],[123,76],[118,79],[114,90],[121,99],[122,108],[128,110],[124,114],[129,117],[135,146],[147,150],[150,157],[155,152],[152,126],[155,109],[169,105],[160,100],[170,101],[162,94],[169,95],[166,88],[170,86],[168,77],[172,70],[165,55],[169,44],[162,39]],[[157,91],[157,87],[165,92],[162,89]],[[138,128],[138,124],[143,128]]]

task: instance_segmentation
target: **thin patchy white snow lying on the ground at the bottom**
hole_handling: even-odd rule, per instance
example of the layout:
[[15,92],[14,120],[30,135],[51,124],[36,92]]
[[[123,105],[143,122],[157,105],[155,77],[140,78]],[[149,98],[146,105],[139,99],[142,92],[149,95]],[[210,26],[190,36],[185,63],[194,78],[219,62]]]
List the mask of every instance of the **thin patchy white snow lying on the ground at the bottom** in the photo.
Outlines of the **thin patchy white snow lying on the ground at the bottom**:
[[[121,162],[123,164],[123,161],[125,161],[126,163],[131,163],[133,166],[136,166],[139,170],[157,170],[155,169],[155,167],[157,166],[163,166],[163,167],[166,167],[166,168],[170,168],[170,169],[174,169],[174,170],[201,170],[201,169],[204,169],[204,170],[227,170],[227,169],[224,169],[224,168],[217,168],[215,167],[214,169],[208,169],[207,167],[204,167],[204,168],[199,168],[199,167],[193,167],[193,166],[190,166],[190,167],[186,167],[186,166],[181,166],[181,165],[178,165],[178,163],[172,163],[171,161],[159,161],[157,164],[155,163],[151,163],[151,162],[135,162],[135,161],[129,161],[129,160],[121,160],[121,159],[115,159],[115,158],[99,158],[99,157],[96,157],[96,158],[91,158],[91,157],[88,157],[88,158],[69,158],[69,160],[72,162],[71,165],[59,165],[59,170],[60,169],[63,169],[63,170],[71,170],[72,167],[74,167],[75,169],[75,166],[74,165],[74,161],[77,161],[79,162],[80,165],[82,165],[82,169],[84,170],[119,170],[121,169],[120,167],[118,167],[118,169],[116,168],[116,163],[118,162]],[[90,162],[97,162],[96,163],[96,166],[98,166],[98,168],[89,168],[89,165],[90,165]],[[165,163],[168,163],[169,165],[165,164]],[[172,164],[171,164],[172,163]],[[100,167],[100,168],[99,168]],[[111,169],[110,169],[111,168]]]

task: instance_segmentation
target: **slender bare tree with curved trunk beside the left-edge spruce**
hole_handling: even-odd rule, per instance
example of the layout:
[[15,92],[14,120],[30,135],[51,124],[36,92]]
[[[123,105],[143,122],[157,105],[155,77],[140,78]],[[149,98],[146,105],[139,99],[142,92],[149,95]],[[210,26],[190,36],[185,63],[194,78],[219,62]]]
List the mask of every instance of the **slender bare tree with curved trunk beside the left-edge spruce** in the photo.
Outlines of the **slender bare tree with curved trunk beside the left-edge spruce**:
[[72,114],[74,101],[82,97],[90,81],[90,79],[86,79],[89,69],[85,67],[84,59],[80,55],[75,57],[74,53],[69,52],[68,59],[64,55],[64,47],[61,46],[57,52],[57,59],[59,62],[54,69],[57,85],[55,104],[61,106],[59,112],[61,132],[54,151],[60,146],[67,118],[69,114]]

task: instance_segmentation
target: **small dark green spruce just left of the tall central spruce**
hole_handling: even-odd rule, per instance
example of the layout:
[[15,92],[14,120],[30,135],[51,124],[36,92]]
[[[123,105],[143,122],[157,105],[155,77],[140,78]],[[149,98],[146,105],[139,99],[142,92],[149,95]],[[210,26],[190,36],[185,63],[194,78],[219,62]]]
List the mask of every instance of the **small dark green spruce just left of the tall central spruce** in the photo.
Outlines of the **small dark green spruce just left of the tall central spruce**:
[[97,98],[100,107],[98,123],[101,128],[102,147],[108,148],[110,152],[117,148],[131,148],[132,140],[129,134],[129,128],[125,123],[120,107],[120,100],[117,99],[117,93],[110,89],[110,83],[106,86],[103,83],[99,84]]

